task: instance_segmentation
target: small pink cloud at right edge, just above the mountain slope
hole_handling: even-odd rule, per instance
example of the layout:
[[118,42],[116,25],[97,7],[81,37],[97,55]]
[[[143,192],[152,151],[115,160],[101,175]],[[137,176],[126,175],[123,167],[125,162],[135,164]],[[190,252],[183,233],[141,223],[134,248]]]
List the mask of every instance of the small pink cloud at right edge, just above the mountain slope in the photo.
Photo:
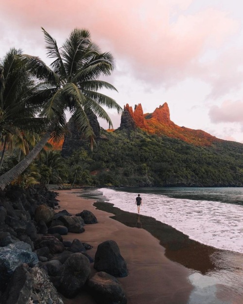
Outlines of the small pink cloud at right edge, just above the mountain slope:
[[243,101],[225,101],[220,107],[213,106],[209,110],[213,123],[243,123]]

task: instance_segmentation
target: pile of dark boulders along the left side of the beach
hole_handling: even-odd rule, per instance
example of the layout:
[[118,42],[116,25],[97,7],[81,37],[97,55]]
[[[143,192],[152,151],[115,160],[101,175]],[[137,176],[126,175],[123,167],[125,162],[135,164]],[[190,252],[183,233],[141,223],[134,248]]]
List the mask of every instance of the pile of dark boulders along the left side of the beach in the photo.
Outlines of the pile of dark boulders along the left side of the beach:
[[[60,294],[73,298],[85,289],[98,304],[126,304],[115,278],[128,274],[117,243],[100,244],[93,260],[87,254],[92,245],[63,241],[62,235],[83,233],[97,218],[87,210],[54,212],[55,197],[15,187],[0,192],[0,303],[62,304]],[[91,268],[99,271],[92,277]]]

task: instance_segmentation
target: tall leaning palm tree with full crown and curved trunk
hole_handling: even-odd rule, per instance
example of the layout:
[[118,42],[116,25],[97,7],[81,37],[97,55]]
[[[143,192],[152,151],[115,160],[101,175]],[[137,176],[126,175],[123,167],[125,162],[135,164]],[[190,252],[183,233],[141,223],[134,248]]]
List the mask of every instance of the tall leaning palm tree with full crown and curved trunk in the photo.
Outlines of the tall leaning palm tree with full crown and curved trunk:
[[110,53],[102,53],[91,41],[90,34],[84,29],[74,29],[61,49],[56,40],[43,28],[47,56],[54,58],[51,67],[45,65],[38,57],[22,55],[36,78],[41,81],[35,94],[37,100],[42,98],[45,105],[41,116],[46,118],[46,130],[42,139],[35,145],[24,160],[0,177],[0,189],[4,189],[11,180],[16,179],[35,159],[45,143],[53,136],[58,136],[66,127],[65,111],[69,110],[78,131],[81,131],[94,143],[94,133],[89,124],[85,109],[90,109],[98,117],[112,122],[104,106],[122,109],[114,99],[99,92],[99,89],[114,89],[111,84],[99,80],[101,75],[110,75],[114,69],[114,59]]

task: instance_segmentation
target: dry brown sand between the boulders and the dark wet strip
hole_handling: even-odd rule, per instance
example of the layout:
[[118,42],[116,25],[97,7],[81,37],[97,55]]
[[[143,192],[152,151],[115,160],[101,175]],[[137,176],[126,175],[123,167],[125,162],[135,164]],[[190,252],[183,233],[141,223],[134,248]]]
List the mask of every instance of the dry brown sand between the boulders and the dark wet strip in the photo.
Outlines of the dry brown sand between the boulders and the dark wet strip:
[[[68,233],[65,240],[79,239],[93,248],[87,253],[94,258],[97,246],[106,241],[117,242],[128,268],[128,276],[119,278],[128,304],[186,304],[193,286],[188,281],[190,270],[169,260],[159,240],[144,229],[127,227],[98,210],[94,200],[79,197],[74,190],[58,191],[60,210],[72,215],[90,210],[98,219],[97,224],[86,225],[81,234]],[[91,265],[92,268],[92,265]],[[95,270],[92,270],[93,273]],[[75,299],[63,298],[64,304],[95,304],[87,294]]]

